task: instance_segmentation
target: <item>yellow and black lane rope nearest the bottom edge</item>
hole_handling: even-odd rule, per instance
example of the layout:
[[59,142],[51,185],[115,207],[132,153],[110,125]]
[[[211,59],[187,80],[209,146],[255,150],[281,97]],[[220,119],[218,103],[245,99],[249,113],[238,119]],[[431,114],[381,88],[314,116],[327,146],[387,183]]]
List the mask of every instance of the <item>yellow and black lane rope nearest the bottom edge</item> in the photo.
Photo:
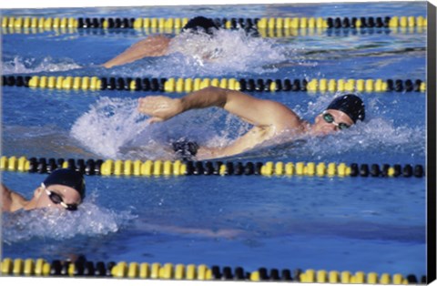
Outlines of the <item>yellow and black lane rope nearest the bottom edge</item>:
[[[70,276],[70,277],[106,277],[131,279],[159,279],[159,280],[189,280],[189,281],[294,281],[310,283],[360,283],[360,284],[417,284],[415,275],[406,277],[400,273],[378,274],[363,271],[301,271],[297,269],[266,269],[258,271],[244,271],[242,267],[208,267],[205,264],[161,264],[158,262],[103,262],[88,261],[79,257],[76,261],[53,260],[51,263],[44,259],[15,259],[5,258],[0,261],[0,272],[3,275],[14,276]],[[426,283],[426,276],[422,276],[422,283]]]

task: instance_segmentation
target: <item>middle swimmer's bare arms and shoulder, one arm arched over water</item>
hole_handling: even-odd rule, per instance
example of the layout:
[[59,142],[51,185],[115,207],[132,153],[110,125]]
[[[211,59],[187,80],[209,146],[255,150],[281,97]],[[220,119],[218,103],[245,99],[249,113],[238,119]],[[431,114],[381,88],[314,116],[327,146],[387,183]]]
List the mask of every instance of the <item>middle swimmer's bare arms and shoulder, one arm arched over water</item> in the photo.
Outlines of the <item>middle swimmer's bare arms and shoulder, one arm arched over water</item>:
[[302,133],[306,126],[289,107],[278,102],[219,87],[206,87],[182,98],[143,97],[138,101],[138,111],[151,116],[150,123],[168,120],[190,109],[206,107],[222,107],[254,125],[254,128],[229,146],[198,148],[198,159],[236,155],[278,136],[285,130],[294,134]]

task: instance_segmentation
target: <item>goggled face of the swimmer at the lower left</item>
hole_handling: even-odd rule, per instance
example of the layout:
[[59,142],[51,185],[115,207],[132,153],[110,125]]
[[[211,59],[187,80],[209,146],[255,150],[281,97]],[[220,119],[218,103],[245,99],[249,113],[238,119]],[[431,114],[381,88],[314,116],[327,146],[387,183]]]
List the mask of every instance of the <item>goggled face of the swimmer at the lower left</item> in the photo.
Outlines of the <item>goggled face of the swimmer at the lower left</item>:
[[36,189],[38,199],[36,201],[36,209],[41,208],[56,208],[76,210],[77,206],[82,202],[79,193],[76,189],[64,185],[44,184]]

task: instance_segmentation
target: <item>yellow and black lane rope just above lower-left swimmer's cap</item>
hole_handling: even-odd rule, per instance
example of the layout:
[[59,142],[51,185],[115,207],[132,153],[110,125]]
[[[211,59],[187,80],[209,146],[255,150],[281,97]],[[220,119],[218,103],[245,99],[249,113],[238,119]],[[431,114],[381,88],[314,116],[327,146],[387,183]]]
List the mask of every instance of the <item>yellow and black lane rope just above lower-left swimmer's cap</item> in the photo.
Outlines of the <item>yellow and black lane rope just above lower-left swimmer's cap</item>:
[[265,177],[363,177],[422,178],[422,165],[357,164],[315,162],[223,162],[161,161],[1,157],[0,170],[50,173],[54,169],[76,169],[86,175],[101,176],[265,176]]

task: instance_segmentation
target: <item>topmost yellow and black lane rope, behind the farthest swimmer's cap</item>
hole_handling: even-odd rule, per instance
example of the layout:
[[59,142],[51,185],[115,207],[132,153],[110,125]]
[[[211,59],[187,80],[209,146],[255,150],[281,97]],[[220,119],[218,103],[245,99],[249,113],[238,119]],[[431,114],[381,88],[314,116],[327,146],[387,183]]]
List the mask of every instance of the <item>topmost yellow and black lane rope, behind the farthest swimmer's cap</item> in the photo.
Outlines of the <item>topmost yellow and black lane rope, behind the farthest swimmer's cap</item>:
[[[292,29],[292,28],[394,28],[427,26],[424,16],[368,16],[368,17],[262,17],[262,18],[211,18],[223,28]],[[121,28],[141,29],[150,27],[180,29],[188,18],[163,17],[30,17],[2,16],[2,27],[13,28]]]

